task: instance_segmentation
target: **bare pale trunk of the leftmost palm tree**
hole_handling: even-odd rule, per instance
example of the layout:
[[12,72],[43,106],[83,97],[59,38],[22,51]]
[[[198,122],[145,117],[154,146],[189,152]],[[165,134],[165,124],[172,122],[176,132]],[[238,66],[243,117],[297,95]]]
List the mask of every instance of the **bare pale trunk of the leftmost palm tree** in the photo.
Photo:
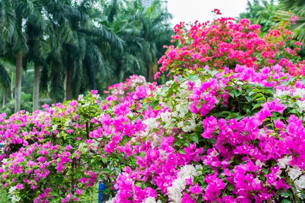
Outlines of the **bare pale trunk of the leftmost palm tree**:
[[16,57],[15,113],[20,111],[21,101],[22,52]]

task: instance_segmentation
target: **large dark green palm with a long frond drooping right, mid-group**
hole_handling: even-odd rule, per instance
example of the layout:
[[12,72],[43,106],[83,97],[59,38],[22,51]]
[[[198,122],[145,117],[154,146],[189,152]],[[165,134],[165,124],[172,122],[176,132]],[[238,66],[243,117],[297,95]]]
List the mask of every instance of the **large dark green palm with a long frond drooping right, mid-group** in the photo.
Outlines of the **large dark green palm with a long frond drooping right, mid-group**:
[[103,67],[103,49],[123,50],[120,38],[105,27],[94,25],[89,16],[94,13],[92,4],[86,0],[74,6],[58,1],[46,4],[51,47],[47,62],[51,67],[51,92],[56,99],[60,99],[56,93],[62,91],[63,78],[65,100],[70,100],[79,93],[83,74],[95,84],[94,73]]

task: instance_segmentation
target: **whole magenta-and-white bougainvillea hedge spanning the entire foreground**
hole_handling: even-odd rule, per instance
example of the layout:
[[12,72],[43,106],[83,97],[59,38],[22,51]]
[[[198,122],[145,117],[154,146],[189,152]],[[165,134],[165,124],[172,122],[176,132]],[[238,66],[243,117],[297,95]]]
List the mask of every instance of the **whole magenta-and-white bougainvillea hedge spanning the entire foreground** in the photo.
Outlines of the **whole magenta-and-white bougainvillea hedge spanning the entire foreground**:
[[3,115],[2,187],[12,202],[81,202],[98,180],[111,202],[301,202],[305,78],[281,69],[186,69],[119,104],[92,91]]

